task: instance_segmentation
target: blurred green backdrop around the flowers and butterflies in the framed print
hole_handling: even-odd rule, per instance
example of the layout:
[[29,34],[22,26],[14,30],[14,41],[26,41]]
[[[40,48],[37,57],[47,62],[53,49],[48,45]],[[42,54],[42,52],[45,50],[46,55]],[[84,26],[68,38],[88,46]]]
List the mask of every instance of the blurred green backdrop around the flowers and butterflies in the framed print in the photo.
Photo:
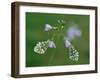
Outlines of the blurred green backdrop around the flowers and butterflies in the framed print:
[[[56,33],[54,42],[57,48],[48,48],[45,54],[35,53],[34,46],[52,36],[52,32],[48,36],[48,32],[44,31],[45,24],[58,26],[58,20],[64,20],[66,24],[63,32]],[[82,31],[82,36],[72,41],[80,56],[77,62],[69,59],[63,40],[72,23]],[[79,64],[89,64],[89,15],[26,12],[26,67]]]

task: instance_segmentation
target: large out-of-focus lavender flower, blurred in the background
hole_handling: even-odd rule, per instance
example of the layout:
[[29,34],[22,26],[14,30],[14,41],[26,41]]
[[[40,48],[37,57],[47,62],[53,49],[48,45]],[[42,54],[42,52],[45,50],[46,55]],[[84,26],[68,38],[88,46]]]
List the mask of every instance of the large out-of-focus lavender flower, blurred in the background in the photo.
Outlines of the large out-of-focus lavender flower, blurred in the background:
[[67,38],[69,41],[73,40],[75,37],[80,37],[81,35],[81,31],[75,26],[70,27],[67,31]]

